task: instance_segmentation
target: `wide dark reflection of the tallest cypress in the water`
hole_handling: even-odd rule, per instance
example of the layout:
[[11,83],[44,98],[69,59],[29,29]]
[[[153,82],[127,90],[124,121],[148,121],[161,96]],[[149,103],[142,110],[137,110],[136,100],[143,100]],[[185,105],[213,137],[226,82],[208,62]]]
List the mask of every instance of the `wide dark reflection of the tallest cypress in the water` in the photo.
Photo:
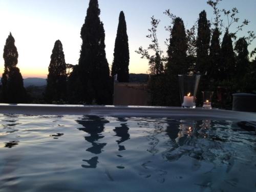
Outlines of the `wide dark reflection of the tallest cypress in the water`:
[[[98,140],[104,138],[101,133],[104,131],[104,125],[106,123],[109,123],[109,121],[106,120],[104,117],[88,115],[83,116],[83,118],[81,120],[77,120],[77,122],[83,126],[82,128],[78,128],[78,130],[90,134],[90,136],[84,137],[86,141],[92,144],[92,146],[87,148],[86,151],[92,154],[100,154],[103,151],[103,147],[106,145],[106,143],[100,143],[98,142]],[[89,165],[82,165],[82,167],[96,168],[98,163],[98,157],[96,156],[89,160],[83,161],[87,162]]]

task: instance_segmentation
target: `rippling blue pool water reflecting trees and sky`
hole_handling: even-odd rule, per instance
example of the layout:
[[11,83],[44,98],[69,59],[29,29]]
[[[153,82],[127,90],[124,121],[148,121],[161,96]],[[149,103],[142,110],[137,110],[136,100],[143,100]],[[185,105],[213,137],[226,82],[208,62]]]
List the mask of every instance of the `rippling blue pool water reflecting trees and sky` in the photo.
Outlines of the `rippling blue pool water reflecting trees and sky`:
[[255,191],[256,136],[218,119],[0,115],[0,191]]

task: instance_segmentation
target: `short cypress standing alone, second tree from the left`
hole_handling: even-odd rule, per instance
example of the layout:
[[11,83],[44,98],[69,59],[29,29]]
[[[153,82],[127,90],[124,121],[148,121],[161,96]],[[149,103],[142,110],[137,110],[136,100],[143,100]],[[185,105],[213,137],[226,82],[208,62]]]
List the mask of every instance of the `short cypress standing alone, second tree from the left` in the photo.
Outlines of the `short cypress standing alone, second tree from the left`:
[[66,100],[67,72],[65,55],[60,40],[55,41],[48,71],[46,101]]

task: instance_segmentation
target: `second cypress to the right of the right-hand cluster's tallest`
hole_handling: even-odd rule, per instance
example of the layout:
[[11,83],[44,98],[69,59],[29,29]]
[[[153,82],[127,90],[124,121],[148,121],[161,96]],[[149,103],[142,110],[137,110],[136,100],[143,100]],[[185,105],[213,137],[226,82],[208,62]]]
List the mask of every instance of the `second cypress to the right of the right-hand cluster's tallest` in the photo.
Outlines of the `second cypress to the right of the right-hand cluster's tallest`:
[[221,44],[221,80],[231,80],[234,77],[236,59],[234,57],[231,35],[225,32]]

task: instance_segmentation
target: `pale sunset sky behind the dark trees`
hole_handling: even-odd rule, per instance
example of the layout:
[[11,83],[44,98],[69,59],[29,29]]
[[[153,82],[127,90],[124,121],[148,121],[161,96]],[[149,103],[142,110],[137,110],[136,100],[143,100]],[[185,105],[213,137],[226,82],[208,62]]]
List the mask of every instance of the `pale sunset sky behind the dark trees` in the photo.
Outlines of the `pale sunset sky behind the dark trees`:
[[[105,30],[105,51],[110,69],[120,11],[125,14],[130,49],[130,73],[147,73],[148,61],[135,53],[140,46],[147,48],[150,39],[146,38],[151,27],[151,17],[161,20],[157,36],[161,49],[169,33],[164,26],[170,25],[170,19],[163,14],[166,9],[183,19],[185,27],[193,26],[202,10],[207,18],[214,18],[213,11],[206,0],[98,0],[101,10],[100,19]],[[0,0],[0,74],[4,71],[2,57],[6,38],[11,32],[18,51],[17,67],[23,78],[46,78],[54,42],[59,39],[63,45],[66,63],[78,64],[82,40],[80,30],[86,17],[89,0]],[[238,16],[247,18],[250,24],[238,36],[246,31],[256,32],[255,0],[223,0],[219,8],[237,7]],[[224,19],[225,22],[225,19]],[[233,27],[236,27],[234,25]],[[256,40],[249,51],[256,47]]]

